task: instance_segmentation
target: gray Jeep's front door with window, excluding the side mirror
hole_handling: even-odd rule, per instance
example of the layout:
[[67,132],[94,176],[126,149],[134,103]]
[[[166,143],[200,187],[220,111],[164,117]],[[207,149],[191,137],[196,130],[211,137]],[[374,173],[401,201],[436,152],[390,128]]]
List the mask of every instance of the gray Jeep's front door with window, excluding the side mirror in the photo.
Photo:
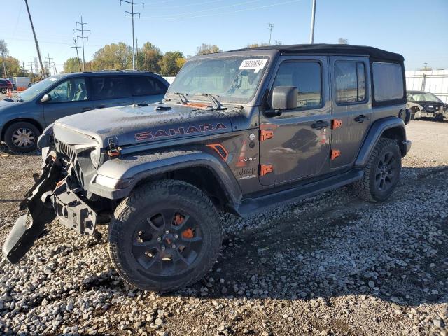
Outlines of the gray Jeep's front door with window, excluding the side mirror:
[[[297,107],[280,116],[260,115],[260,183],[268,186],[328,171],[330,102],[327,57],[282,57],[272,78],[276,86],[295,86]],[[267,111],[270,107],[268,106]],[[264,137],[263,137],[264,136]],[[263,139],[265,138],[265,139]],[[263,167],[272,165],[272,172]]]

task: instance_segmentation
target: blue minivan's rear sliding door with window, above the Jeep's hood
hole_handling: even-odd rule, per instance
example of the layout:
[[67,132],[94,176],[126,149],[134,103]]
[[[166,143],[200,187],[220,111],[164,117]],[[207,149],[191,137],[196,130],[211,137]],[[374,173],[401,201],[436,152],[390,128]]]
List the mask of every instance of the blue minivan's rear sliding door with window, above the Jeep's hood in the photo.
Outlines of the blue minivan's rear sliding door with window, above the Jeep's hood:
[[93,108],[130,105],[133,102],[131,76],[92,76]]

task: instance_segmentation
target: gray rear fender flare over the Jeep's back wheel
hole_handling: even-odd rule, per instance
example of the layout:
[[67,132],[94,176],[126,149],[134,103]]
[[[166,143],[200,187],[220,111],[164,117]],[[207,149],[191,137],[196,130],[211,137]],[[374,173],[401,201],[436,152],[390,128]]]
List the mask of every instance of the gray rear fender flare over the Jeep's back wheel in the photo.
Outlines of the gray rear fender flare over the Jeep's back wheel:
[[[402,129],[403,134],[402,141],[403,142],[407,141],[405,122],[401,118],[395,118],[395,117],[384,118],[377,120],[372,124],[372,127],[370,127],[370,130],[367,133],[367,137],[365,137],[365,140],[363,142],[363,146],[361,146],[358,156],[356,158],[355,161],[356,168],[363,168],[365,167],[365,165],[367,165],[367,161],[370,158],[370,154],[372,153],[375,146],[377,146],[381,134],[383,134],[386,130],[390,130],[391,128],[395,127],[400,127]],[[400,144],[400,148],[401,146],[402,144]]]

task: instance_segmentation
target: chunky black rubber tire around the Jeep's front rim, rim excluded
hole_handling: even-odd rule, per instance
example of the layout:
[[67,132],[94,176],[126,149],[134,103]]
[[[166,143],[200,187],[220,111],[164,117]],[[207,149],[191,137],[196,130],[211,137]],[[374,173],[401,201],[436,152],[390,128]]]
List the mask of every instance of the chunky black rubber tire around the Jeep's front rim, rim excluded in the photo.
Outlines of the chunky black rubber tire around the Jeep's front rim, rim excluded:
[[[132,250],[138,223],[167,205],[173,209],[188,209],[191,216],[197,218],[202,231],[200,253],[181,276],[148,273],[137,262]],[[142,290],[169,292],[190,286],[209,272],[221,250],[222,235],[218,212],[200,189],[183,181],[155,181],[138,187],[116,208],[109,225],[109,256],[127,283]]]

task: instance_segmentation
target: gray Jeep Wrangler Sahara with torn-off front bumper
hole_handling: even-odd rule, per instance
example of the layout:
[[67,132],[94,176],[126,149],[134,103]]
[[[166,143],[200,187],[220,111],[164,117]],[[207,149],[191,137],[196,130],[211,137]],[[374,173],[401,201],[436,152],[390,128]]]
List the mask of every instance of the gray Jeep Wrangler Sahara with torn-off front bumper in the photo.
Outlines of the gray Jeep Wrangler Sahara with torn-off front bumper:
[[403,57],[370,47],[193,57],[163,102],[88,111],[43,132],[42,174],[3,255],[18,262],[55,217],[83,235],[110,221],[125,281],[188,286],[218,257],[218,210],[246,216],[349,183],[386,200],[411,145],[405,92]]

